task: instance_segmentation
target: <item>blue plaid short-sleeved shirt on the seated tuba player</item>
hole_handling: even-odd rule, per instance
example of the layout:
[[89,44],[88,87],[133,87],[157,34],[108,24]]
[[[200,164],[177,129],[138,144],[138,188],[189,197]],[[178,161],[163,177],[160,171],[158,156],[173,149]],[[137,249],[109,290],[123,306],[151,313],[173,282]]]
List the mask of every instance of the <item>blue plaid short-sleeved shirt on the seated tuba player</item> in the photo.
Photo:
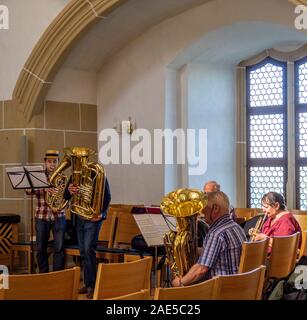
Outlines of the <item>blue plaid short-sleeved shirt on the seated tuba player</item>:
[[[223,215],[210,227],[204,240],[204,252],[198,263],[210,270],[208,277],[238,272],[244,230],[229,215]],[[206,276],[207,278],[207,276]]]

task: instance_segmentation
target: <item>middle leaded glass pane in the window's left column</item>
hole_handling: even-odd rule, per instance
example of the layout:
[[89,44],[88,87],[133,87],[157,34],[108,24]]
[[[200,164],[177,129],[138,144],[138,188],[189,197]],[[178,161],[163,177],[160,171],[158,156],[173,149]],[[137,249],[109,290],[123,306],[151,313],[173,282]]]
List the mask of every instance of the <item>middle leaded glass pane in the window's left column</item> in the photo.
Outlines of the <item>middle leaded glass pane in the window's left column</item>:
[[283,115],[252,115],[250,117],[250,157],[282,158]]

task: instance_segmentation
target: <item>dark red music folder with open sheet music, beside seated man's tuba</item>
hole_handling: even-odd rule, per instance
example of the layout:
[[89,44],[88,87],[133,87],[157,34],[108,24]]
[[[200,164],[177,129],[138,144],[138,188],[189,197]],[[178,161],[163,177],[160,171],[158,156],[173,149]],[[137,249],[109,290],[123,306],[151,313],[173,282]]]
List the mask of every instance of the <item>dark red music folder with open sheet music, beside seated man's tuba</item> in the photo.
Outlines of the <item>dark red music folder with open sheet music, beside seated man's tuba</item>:
[[159,207],[133,207],[131,214],[149,247],[164,245],[164,234],[176,231],[176,218],[163,214]]

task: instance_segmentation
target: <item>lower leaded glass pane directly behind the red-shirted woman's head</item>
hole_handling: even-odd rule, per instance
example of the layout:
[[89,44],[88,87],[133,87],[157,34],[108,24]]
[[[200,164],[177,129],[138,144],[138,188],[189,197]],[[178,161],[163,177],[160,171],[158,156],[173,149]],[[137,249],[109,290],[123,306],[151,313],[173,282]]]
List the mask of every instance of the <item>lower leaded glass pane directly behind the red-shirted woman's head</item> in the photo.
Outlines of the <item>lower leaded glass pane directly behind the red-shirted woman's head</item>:
[[283,167],[250,167],[250,206],[261,208],[262,196],[269,192],[284,192]]

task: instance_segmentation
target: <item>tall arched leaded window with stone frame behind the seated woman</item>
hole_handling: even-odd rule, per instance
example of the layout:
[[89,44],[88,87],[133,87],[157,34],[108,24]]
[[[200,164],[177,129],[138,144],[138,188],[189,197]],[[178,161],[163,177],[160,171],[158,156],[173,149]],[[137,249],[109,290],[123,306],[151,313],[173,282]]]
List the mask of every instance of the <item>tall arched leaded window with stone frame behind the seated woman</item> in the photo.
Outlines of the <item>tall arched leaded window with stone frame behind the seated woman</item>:
[[242,61],[237,112],[237,205],[276,191],[307,210],[307,45]]

